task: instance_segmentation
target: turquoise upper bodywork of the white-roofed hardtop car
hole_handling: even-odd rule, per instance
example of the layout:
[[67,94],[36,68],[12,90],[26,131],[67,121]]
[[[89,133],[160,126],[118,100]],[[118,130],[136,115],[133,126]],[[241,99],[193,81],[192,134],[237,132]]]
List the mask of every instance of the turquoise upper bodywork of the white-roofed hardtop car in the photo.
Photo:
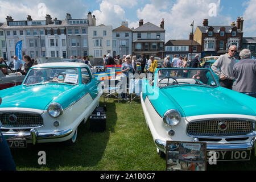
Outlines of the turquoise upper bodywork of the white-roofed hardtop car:
[[77,85],[47,83],[27,86],[22,83],[22,85],[13,88],[0,90],[0,97],[2,98],[0,107],[24,107],[47,110],[49,104],[57,102],[65,109],[86,94],[90,94],[94,100],[98,95],[97,86],[100,82],[93,75],[90,75],[91,81],[86,85],[82,84],[81,68],[77,69],[79,69],[80,75],[80,81]]

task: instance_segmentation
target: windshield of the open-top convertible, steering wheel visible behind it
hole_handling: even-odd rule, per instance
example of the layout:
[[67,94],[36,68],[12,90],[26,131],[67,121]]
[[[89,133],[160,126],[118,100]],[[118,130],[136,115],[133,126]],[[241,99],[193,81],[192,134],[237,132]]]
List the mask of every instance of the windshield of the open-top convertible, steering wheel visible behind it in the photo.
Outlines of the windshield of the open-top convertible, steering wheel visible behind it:
[[208,69],[159,69],[160,88],[179,85],[204,85],[216,87],[218,84]]

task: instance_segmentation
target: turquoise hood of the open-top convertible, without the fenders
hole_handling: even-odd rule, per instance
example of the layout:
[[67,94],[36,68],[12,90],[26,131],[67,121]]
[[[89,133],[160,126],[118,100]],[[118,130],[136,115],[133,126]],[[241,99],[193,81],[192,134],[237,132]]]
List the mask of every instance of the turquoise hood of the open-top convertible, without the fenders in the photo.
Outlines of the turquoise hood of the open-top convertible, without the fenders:
[[162,90],[183,109],[186,117],[205,114],[255,115],[250,106],[236,99],[243,94],[224,88],[177,86]]

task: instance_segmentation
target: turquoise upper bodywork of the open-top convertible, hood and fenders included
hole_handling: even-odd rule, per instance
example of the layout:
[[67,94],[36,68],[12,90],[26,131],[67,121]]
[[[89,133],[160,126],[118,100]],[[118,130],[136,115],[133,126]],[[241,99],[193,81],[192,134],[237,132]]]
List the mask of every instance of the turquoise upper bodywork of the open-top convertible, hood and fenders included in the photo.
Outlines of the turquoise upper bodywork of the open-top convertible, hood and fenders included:
[[[157,71],[156,71],[157,72]],[[153,94],[158,92],[158,97]],[[176,109],[181,117],[206,114],[256,115],[256,99],[246,94],[203,85],[180,85],[158,88],[146,78],[142,81],[142,97],[150,100],[156,112],[163,117],[169,109]]]

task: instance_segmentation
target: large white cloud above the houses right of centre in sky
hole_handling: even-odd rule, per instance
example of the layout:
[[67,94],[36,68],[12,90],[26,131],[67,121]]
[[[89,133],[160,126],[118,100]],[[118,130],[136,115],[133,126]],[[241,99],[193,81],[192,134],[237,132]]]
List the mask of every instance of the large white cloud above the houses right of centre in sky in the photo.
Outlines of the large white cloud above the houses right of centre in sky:
[[[152,0],[150,4],[146,4],[142,9],[138,9],[137,16],[138,19],[154,23],[157,26],[160,26],[160,22],[164,18],[166,42],[170,39],[188,39],[189,32],[192,32],[190,25],[193,20],[195,21],[194,31],[196,26],[203,24],[203,19],[205,18],[209,20],[209,25],[229,25],[232,23],[231,18],[220,14],[222,9],[220,7],[220,0],[179,0],[174,3],[171,2],[170,4],[173,6],[167,9],[163,9],[162,6],[156,6],[155,3],[156,1]],[[209,11],[211,10],[209,7],[210,3],[215,3],[216,5],[216,17],[209,16]]]

